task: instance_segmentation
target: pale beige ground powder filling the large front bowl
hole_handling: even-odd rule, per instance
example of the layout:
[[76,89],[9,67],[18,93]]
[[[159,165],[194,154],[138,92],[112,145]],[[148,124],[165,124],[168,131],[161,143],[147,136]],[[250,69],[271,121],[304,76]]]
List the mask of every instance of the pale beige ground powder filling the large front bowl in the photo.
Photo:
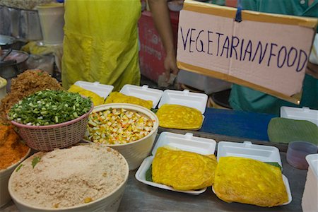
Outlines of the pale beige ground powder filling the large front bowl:
[[13,196],[29,206],[66,208],[110,194],[126,175],[122,155],[90,144],[31,156],[13,172],[9,186]]

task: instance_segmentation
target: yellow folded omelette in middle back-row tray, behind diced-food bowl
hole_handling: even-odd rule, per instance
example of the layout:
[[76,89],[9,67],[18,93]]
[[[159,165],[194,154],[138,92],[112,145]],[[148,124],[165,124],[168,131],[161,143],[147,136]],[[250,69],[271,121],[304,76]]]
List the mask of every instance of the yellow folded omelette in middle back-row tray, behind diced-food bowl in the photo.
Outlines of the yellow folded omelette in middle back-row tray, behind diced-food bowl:
[[153,107],[153,101],[151,100],[142,100],[141,98],[136,98],[131,95],[124,95],[119,92],[110,93],[110,95],[105,100],[105,104],[108,103],[129,103],[146,107],[149,110],[151,109],[151,107]]

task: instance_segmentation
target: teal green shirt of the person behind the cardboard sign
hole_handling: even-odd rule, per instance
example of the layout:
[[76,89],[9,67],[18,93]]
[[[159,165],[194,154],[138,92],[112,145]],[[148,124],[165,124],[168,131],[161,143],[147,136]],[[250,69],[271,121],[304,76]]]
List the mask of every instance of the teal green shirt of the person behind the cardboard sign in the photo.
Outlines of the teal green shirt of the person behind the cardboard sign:
[[[318,17],[318,0],[310,6],[308,6],[308,0],[242,0],[242,8],[266,13]],[[318,80],[306,74],[300,105],[236,84],[232,86],[229,102],[234,110],[278,115],[281,106],[310,107],[318,110]]]

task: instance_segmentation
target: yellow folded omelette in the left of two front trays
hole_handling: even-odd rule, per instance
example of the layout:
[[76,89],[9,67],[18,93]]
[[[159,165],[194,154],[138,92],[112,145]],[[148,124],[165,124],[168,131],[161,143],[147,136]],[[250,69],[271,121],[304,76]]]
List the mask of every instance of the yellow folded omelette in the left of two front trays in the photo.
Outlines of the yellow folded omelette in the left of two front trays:
[[166,184],[177,190],[209,187],[214,182],[216,157],[160,147],[152,165],[153,182]]

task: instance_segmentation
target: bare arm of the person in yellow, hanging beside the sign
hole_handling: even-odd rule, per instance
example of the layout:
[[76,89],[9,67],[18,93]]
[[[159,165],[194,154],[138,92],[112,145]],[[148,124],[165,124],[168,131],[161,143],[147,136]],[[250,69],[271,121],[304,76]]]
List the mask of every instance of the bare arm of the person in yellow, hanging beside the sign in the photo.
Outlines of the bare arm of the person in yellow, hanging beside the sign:
[[176,52],[173,42],[169,9],[167,8],[167,0],[148,0],[148,4],[151,9],[155,28],[158,30],[167,54],[164,66],[165,76],[167,77],[167,80],[169,80],[170,72],[177,74],[179,69],[177,68]]

